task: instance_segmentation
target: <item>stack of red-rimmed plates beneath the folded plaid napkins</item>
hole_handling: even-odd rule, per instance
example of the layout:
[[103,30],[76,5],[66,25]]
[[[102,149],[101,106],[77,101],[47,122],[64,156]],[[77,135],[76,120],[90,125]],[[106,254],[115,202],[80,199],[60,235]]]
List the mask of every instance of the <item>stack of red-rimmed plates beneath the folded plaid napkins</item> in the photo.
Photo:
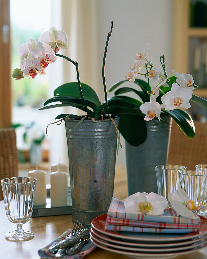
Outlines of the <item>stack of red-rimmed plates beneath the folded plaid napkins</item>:
[[98,247],[134,258],[167,259],[207,246],[207,219],[201,218],[199,232],[188,234],[135,233],[105,230],[107,214],[93,219],[91,240]]

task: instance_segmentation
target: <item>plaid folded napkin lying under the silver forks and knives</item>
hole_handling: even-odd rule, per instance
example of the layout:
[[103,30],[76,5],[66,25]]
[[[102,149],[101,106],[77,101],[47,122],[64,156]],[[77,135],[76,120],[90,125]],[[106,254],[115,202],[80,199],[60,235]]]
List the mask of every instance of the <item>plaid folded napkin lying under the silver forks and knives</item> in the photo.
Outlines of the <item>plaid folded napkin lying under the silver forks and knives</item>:
[[[67,231],[65,231],[61,236],[59,236],[53,242],[51,242],[50,244],[48,244],[44,248],[38,250],[39,256],[41,256],[42,258],[56,258],[55,254],[51,254],[51,253],[48,252],[48,248],[52,244],[57,243],[57,242],[63,240],[66,237],[66,235],[70,234],[71,230],[72,229],[69,228]],[[64,255],[61,258],[80,259],[80,258],[83,258],[85,255],[90,254],[95,248],[96,248],[96,245],[94,245],[91,242],[91,240],[89,240],[86,244],[84,244],[84,246],[82,246],[82,248],[80,249],[79,253],[77,253],[75,255],[72,255],[72,256]]]

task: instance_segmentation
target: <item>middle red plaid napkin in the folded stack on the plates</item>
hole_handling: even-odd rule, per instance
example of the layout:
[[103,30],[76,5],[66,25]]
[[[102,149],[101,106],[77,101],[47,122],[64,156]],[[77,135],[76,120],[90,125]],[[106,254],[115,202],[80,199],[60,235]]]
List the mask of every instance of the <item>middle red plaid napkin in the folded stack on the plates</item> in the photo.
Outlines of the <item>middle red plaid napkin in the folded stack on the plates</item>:
[[201,226],[199,224],[160,223],[160,222],[150,222],[150,221],[131,220],[131,219],[119,219],[119,218],[113,218],[113,217],[107,217],[106,222],[108,225],[151,227],[151,228],[153,227],[153,228],[196,228],[198,229]]

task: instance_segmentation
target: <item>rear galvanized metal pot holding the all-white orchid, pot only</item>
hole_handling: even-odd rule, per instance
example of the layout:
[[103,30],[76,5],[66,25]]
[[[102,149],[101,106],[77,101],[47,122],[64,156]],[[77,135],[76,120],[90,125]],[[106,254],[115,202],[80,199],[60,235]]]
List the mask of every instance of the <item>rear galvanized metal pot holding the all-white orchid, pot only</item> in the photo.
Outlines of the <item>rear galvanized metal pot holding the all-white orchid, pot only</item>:
[[172,118],[162,117],[170,123],[146,121],[147,138],[134,147],[125,141],[128,196],[136,192],[158,193],[155,166],[167,164]]

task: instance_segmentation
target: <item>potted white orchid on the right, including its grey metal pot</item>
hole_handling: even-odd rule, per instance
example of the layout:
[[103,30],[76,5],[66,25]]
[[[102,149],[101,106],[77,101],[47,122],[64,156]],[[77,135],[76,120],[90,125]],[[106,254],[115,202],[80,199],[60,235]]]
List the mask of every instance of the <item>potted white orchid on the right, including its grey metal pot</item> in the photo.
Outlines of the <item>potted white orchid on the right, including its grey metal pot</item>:
[[[125,107],[136,107],[145,116],[143,120],[143,116],[139,115],[114,114],[120,117],[119,131],[125,139],[128,195],[138,191],[158,192],[154,168],[157,164],[167,163],[172,119],[189,138],[194,137],[192,118],[178,108],[188,109],[189,100],[207,108],[207,101],[193,94],[197,88],[193,77],[175,71],[174,76],[168,77],[164,56],[160,57],[160,65],[155,67],[151,60],[146,59],[148,48],[149,45],[144,52],[135,55],[131,71],[125,76],[127,79],[109,89],[111,92],[126,81],[135,83],[138,89],[121,87],[108,102],[117,106],[124,102]],[[145,73],[141,73],[141,68],[145,69]],[[137,75],[142,75],[147,81],[135,78]],[[133,92],[138,98],[122,95],[127,92]]]

